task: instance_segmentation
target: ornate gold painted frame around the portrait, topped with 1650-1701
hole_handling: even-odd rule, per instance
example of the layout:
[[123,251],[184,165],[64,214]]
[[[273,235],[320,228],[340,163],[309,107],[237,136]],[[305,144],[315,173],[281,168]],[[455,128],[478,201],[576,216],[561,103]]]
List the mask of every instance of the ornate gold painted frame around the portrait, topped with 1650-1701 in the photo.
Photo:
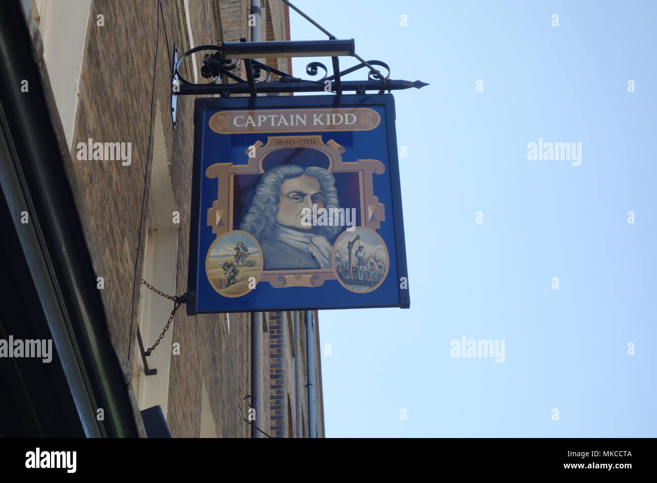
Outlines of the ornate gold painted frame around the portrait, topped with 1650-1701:
[[[286,144],[281,145],[281,143]],[[212,207],[208,208],[207,222],[207,225],[212,227],[212,233],[217,235],[217,239],[224,233],[233,231],[234,176],[264,173],[262,163],[265,156],[274,150],[289,147],[306,147],[324,152],[328,156],[329,172],[357,172],[361,198],[361,223],[358,226],[375,232],[380,228],[380,222],[386,219],[386,212],[384,205],[378,201],[377,196],[374,196],[373,175],[383,174],[386,171],[382,162],[375,159],[342,161],[344,147],[332,139],[324,143],[321,135],[267,136],[267,144],[256,141],[252,147],[244,150],[246,156],[250,152],[256,152],[255,157],[249,158],[248,164],[215,163],[205,172],[207,177],[217,178],[218,181],[217,199],[212,203]],[[215,241],[212,243],[214,244]],[[262,271],[260,277],[260,281],[269,282],[275,288],[321,287],[325,280],[334,279],[336,275],[333,268],[267,270]]]

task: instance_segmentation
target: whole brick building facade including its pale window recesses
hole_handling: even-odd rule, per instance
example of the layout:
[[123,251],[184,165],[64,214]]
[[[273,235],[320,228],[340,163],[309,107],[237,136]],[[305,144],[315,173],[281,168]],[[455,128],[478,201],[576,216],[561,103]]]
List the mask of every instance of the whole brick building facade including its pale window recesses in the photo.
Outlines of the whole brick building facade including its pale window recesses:
[[[248,7],[246,0],[32,0],[53,121],[70,149],[66,174],[102,277],[108,332],[135,419],[141,424],[137,407],[161,405],[174,437],[251,434],[243,421],[251,387],[249,314],[189,317],[179,310],[147,357],[156,375],[145,375],[138,340],[139,331],[146,348],[154,344],[173,305],[141,285],[142,277],[170,295],[187,286],[194,97],[177,99],[174,130],[173,45],[183,53],[248,38]],[[261,38],[289,39],[286,5],[262,0],[261,11]],[[206,81],[198,71],[203,54],[181,68],[188,80]],[[267,59],[285,72],[288,62]],[[79,160],[76,147],[89,139],[130,143],[131,162]],[[317,436],[323,436],[319,329],[310,368],[306,313],[267,313],[263,332],[264,421],[256,425],[272,437],[307,437],[306,376],[313,371]]]

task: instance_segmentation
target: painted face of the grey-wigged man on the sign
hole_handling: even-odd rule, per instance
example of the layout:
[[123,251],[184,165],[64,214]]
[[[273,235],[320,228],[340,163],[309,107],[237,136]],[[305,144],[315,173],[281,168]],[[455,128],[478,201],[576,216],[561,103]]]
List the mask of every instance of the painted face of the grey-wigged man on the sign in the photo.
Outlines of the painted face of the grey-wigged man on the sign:
[[321,184],[317,178],[305,174],[283,181],[279,199],[276,221],[285,227],[302,230],[313,228],[312,225],[304,226],[302,224],[302,219],[304,219],[302,210],[304,208],[312,210],[313,204],[317,205],[318,210],[324,206]]

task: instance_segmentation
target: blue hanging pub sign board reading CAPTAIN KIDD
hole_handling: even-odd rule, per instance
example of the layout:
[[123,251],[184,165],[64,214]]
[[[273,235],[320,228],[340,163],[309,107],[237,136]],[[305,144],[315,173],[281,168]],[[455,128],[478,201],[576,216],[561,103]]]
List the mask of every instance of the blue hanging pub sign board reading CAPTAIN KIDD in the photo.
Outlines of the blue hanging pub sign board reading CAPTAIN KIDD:
[[187,313],[409,307],[392,95],[197,99]]

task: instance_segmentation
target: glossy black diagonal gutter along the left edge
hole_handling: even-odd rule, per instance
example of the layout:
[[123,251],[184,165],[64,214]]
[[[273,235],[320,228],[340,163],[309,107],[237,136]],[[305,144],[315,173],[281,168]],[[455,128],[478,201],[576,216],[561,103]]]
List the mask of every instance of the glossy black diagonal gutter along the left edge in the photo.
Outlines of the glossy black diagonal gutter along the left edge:
[[[0,1],[0,127],[11,150],[0,160],[0,183],[14,211],[28,206],[30,223],[21,224],[18,212],[14,226],[85,434],[137,437],[127,383],[110,342],[96,274],[64,170],[62,152],[68,156],[68,147],[55,135],[20,4]],[[24,80],[29,86],[26,93],[20,89]],[[44,264],[45,272],[37,271]],[[99,408],[104,421],[95,417]]]

